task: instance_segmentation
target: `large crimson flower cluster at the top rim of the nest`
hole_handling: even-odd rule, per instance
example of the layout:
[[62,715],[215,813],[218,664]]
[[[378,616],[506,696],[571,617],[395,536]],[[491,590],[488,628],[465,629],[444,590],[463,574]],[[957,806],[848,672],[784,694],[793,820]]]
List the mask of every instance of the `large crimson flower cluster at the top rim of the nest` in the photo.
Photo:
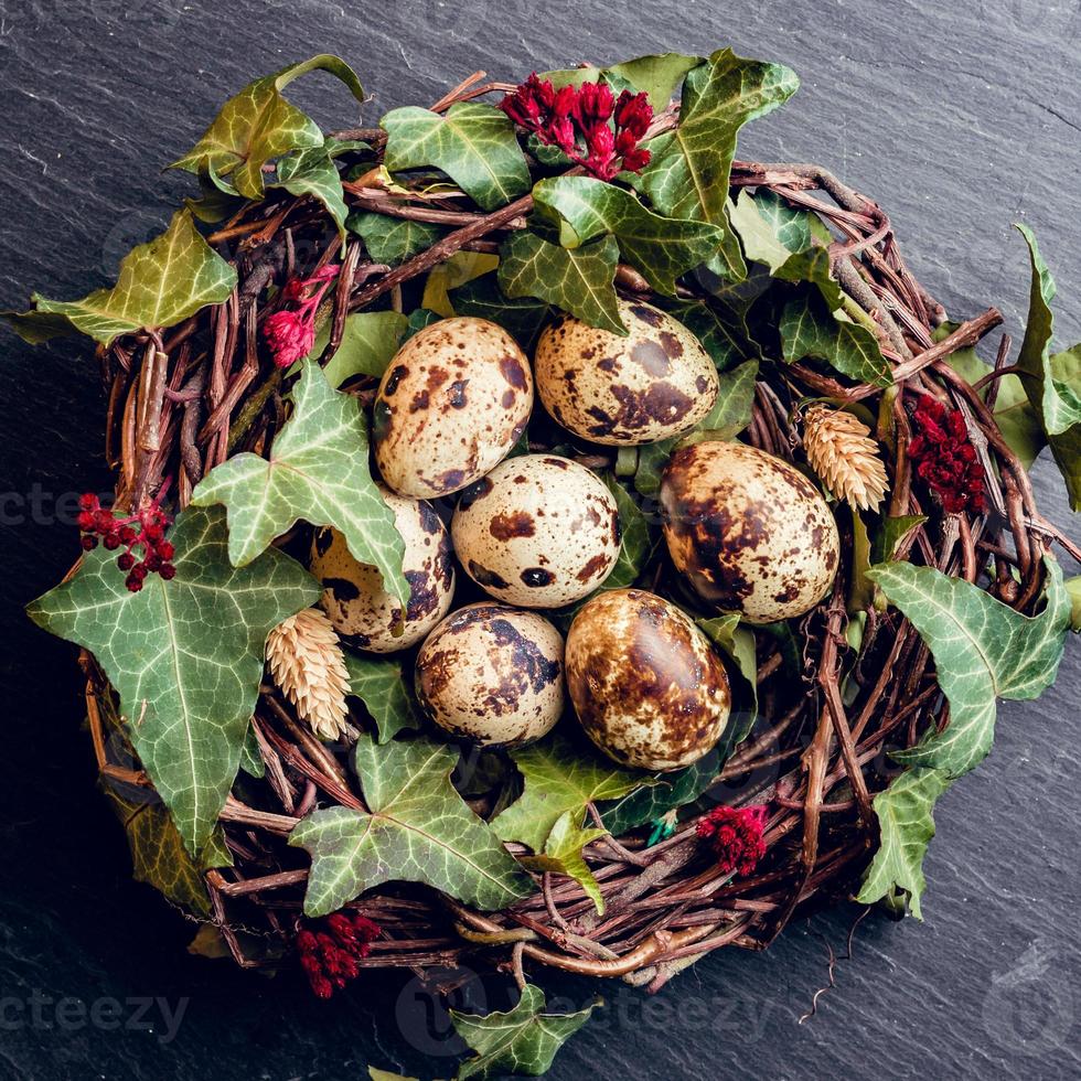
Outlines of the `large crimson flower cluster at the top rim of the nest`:
[[650,151],[639,146],[653,120],[644,94],[623,90],[617,99],[607,83],[557,90],[534,72],[500,108],[600,180],[612,180],[624,169],[641,172],[650,163]]

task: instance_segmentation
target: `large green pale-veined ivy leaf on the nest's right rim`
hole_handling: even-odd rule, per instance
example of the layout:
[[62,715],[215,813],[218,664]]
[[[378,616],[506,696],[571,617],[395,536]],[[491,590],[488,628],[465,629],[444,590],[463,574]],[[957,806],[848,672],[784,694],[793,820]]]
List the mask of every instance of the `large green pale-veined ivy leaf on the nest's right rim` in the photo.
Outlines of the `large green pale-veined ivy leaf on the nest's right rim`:
[[919,631],[934,657],[939,686],[950,702],[950,724],[916,747],[893,752],[899,762],[961,777],[977,766],[995,738],[998,698],[1038,698],[1055,682],[1070,623],[1062,571],[1043,557],[1043,611],[1027,617],[989,593],[930,567],[888,563],[867,577]]

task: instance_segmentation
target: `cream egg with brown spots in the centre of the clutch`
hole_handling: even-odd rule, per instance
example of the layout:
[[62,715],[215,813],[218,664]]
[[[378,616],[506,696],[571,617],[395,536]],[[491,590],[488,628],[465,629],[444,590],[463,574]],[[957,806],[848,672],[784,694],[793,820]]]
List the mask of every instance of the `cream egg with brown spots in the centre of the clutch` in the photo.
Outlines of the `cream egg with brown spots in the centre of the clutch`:
[[501,462],[462,492],[450,531],[469,576],[522,608],[561,608],[588,596],[620,550],[611,492],[585,465],[554,454]]

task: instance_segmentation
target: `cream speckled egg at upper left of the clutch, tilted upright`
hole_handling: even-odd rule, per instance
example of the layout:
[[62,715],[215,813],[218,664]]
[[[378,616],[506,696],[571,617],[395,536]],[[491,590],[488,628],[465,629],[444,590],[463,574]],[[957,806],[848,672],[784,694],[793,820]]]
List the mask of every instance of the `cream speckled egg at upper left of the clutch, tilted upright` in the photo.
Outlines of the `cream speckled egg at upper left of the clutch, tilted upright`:
[[399,495],[459,492],[501,462],[533,408],[529,362],[485,319],[442,319],[414,334],[383,373],[375,461]]

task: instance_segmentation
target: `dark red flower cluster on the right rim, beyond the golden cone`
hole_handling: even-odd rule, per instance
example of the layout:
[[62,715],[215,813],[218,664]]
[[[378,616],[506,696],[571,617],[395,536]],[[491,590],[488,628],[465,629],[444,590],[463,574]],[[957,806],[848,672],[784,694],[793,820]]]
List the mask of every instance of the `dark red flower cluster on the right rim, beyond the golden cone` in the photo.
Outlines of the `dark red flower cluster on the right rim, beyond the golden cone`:
[[908,445],[908,457],[916,475],[939,496],[946,513],[982,512],[984,468],[976,460],[961,410],[924,395],[912,419],[918,430]]

